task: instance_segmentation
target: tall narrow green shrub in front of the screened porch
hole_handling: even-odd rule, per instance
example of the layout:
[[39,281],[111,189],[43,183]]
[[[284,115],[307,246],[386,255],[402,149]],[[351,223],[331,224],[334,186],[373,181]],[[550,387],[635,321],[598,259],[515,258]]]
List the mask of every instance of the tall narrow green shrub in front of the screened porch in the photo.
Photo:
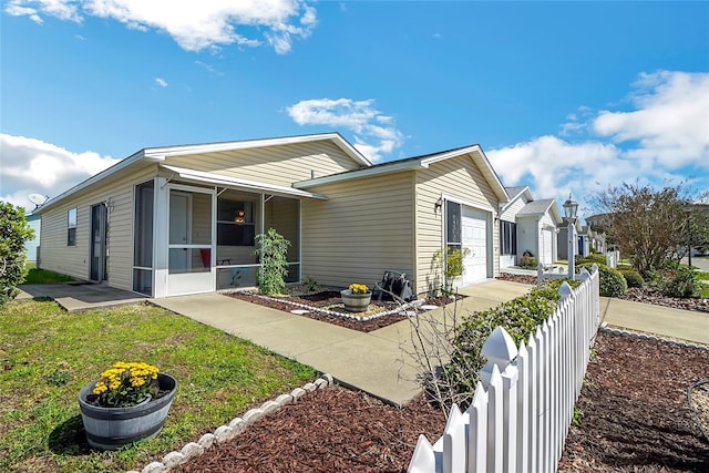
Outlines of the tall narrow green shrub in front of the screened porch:
[[260,256],[261,267],[258,269],[258,289],[266,295],[280,294],[286,288],[288,275],[288,241],[274,228],[265,234],[256,235],[257,248],[254,254]]

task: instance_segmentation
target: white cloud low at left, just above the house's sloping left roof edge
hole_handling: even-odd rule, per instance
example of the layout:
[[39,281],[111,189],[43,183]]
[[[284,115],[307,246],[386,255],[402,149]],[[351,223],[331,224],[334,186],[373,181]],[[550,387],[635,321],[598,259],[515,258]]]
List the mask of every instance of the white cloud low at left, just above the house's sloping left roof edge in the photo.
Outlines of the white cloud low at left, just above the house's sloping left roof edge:
[[73,153],[37,138],[0,133],[0,199],[34,208],[28,195],[56,197],[119,160],[94,152]]

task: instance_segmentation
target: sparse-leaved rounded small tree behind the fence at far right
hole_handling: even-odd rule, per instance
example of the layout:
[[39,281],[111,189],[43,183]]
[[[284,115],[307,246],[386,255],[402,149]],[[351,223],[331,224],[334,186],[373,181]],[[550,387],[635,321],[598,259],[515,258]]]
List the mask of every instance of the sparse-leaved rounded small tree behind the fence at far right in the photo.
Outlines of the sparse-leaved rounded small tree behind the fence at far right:
[[[688,243],[693,217],[693,195],[682,184],[657,189],[651,185],[624,183],[592,198],[604,215],[604,226],[620,253],[644,277],[679,261]],[[697,233],[699,234],[699,229]]]

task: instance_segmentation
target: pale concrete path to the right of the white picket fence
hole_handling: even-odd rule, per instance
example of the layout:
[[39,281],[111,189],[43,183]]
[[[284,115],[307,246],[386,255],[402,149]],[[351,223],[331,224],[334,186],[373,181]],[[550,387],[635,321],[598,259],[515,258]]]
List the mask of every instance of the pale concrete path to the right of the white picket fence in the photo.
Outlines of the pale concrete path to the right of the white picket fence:
[[621,329],[709,345],[707,312],[602,297],[600,319]]

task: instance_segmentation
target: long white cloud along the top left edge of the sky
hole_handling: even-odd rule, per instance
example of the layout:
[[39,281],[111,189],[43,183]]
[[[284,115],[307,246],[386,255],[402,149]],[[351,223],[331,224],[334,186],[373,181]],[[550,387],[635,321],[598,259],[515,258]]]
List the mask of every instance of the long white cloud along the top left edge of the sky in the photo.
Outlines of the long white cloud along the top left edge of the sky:
[[167,32],[187,51],[257,47],[265,39],[285,54],[317,24],[316,9],[304,0],[11,0],[4,10],[40,24],[41,14],[75,22],[88,16],[110,18],[129,28]]

